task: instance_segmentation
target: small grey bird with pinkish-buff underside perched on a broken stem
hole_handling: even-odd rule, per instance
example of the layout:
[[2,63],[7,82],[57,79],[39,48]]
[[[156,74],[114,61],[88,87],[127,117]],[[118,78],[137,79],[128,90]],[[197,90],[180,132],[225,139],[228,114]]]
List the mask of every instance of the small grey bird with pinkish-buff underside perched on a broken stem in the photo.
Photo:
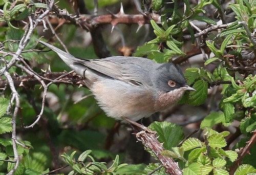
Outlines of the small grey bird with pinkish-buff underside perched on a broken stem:
[[102,110],[116,120],[134,123],[165,110],[185,91],[196,91],[186,84],[180,67],[173,63],[160,64],[132,56],[79,59],[47,42],[39,42],[84,78]]

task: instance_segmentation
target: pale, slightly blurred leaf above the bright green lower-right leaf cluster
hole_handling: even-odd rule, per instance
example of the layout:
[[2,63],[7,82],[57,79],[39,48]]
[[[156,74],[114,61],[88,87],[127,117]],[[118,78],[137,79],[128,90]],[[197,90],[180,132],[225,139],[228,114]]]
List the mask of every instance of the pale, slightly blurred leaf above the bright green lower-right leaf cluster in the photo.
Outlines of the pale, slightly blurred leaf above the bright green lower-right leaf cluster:
[[212,112],[201,122],[200,128],[212,127],[218,123],[225,123],[225,116],[222,112]]

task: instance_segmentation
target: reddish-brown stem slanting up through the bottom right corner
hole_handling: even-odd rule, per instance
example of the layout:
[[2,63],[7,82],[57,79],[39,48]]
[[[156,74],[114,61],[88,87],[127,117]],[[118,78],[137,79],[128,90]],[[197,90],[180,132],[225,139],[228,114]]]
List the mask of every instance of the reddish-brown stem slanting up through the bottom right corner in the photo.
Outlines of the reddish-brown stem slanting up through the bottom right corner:
[[238,159],[233,163],[233,165],[230,167],[229,174],[234,174],[234,172],[237,170],[238,166],[241,165],[241,162],[245,155],[250,154],[250,149],[252,146],[256,143],[256,130],[253,132],[253,136],[250,138],[250,140],[247,142],[246,146],[244,147],[243,151],[241,152],[241,155],[239,155]]

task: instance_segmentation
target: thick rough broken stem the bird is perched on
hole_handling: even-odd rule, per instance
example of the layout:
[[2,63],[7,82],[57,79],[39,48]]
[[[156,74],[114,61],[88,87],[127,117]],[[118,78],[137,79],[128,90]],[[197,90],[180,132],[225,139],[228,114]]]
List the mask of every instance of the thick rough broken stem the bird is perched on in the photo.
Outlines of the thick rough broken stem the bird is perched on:
[[141,141],[146,148],[152,150],[159,161],[162,163],[165,168],[165,172],[174,175],[181,175],[182,171],[178,166],[178,163],[175,162],[172,158],[165,157],[161,155],[161,152],[165,150],[162,144],[157,140],[156,133],[148,133],[145,130],[136,134],[136,137]]

